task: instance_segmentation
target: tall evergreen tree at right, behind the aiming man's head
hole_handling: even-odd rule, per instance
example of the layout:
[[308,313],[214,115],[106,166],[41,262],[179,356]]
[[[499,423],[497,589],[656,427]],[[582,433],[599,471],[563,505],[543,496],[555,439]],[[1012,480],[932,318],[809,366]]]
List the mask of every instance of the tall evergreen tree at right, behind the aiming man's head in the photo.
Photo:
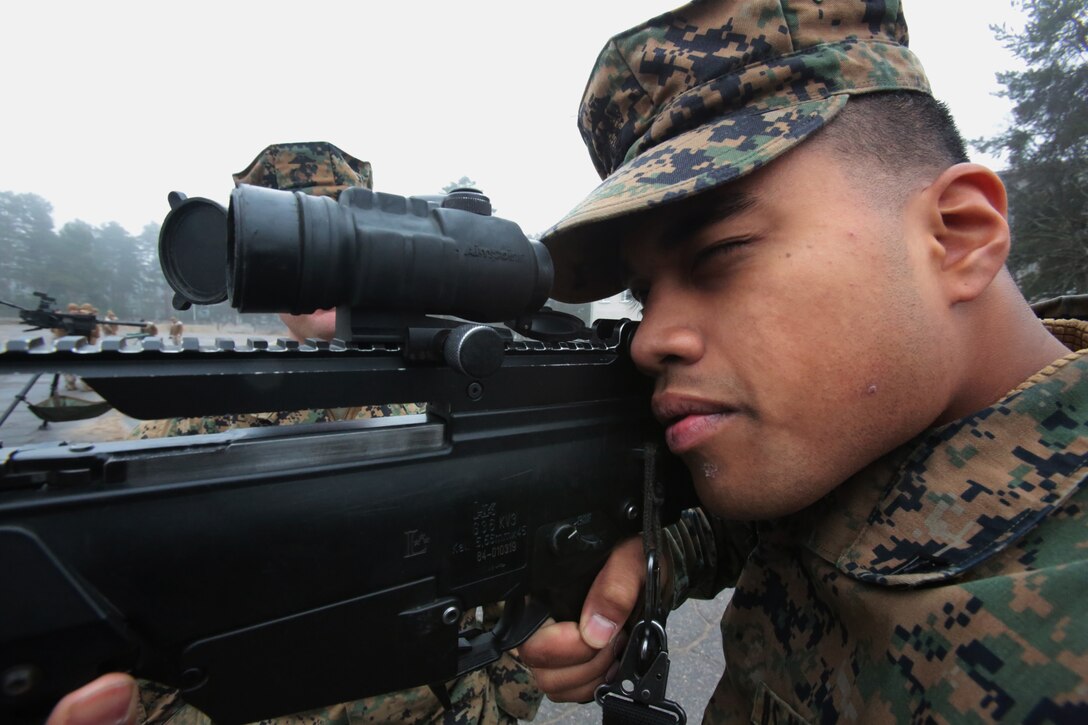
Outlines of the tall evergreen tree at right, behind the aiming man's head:
[[975,145],[1003,155],[1017,283],[1033,300],[1088,292],[1088,12],[1085,0],[1016,0],[1022,32],[994,27],[1026,64],[1000,73],[1013,102],[1004,133]]

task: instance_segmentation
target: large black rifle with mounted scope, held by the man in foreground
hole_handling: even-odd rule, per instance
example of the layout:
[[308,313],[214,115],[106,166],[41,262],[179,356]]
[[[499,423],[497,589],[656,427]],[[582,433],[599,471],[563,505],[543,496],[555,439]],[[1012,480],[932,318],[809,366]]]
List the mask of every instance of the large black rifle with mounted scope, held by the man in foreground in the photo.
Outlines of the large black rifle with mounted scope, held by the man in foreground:
[[[536,309],[551,285],[543,247],[510,222],[430,200],[239,187],[228,212],[181,195],[172,206],[160,257],[175,306],[223,294],[222,272],[185,251],[198,248],[226,265],[236,307],[275,308],[276,275],[286,309],[324,305],[327,286],[348,283],[305,278],[316,272],[275,255],[312,259],[329,243],[313,230],[336,224],[370,245],[341,273],[385,292],[334,300],[344,340],[21,340],[0,372],[76,372],[137,418],[428,411],[0,448],[2,720],[40,717],[123,669],[180,688],[215,722],[248,722],[444,683],[549,613],[577,618],[610,548],[640,528],[641,453],[660,437],[650,381],[627,355],[635,323],[589,329]],[[690,479],[675,458],[658,468],[670,520],[691,503]],[[460,629],[463,613],[497,601],[494,629]]]

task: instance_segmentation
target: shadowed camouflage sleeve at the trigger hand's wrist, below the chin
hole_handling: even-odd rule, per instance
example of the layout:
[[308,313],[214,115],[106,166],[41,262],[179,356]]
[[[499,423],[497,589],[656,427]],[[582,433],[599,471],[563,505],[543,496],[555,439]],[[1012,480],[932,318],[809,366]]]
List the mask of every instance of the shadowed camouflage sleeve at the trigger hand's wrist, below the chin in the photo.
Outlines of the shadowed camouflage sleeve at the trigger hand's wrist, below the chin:
[[698,507],[665,528],[665,542],[672,609],[688,599],[714,599],[733,586],[755,545],[749,525],[707,516]]

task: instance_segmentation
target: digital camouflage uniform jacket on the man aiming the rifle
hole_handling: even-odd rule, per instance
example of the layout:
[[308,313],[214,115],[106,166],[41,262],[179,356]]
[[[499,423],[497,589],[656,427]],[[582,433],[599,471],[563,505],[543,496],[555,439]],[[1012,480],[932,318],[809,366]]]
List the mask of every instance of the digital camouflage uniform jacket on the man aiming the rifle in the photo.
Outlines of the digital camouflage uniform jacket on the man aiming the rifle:
[[[1088,323],[1048,325],[1080,352],[755,527],[704,722],[1088,722]],[[684,520],[678,600],[729,575]]]

